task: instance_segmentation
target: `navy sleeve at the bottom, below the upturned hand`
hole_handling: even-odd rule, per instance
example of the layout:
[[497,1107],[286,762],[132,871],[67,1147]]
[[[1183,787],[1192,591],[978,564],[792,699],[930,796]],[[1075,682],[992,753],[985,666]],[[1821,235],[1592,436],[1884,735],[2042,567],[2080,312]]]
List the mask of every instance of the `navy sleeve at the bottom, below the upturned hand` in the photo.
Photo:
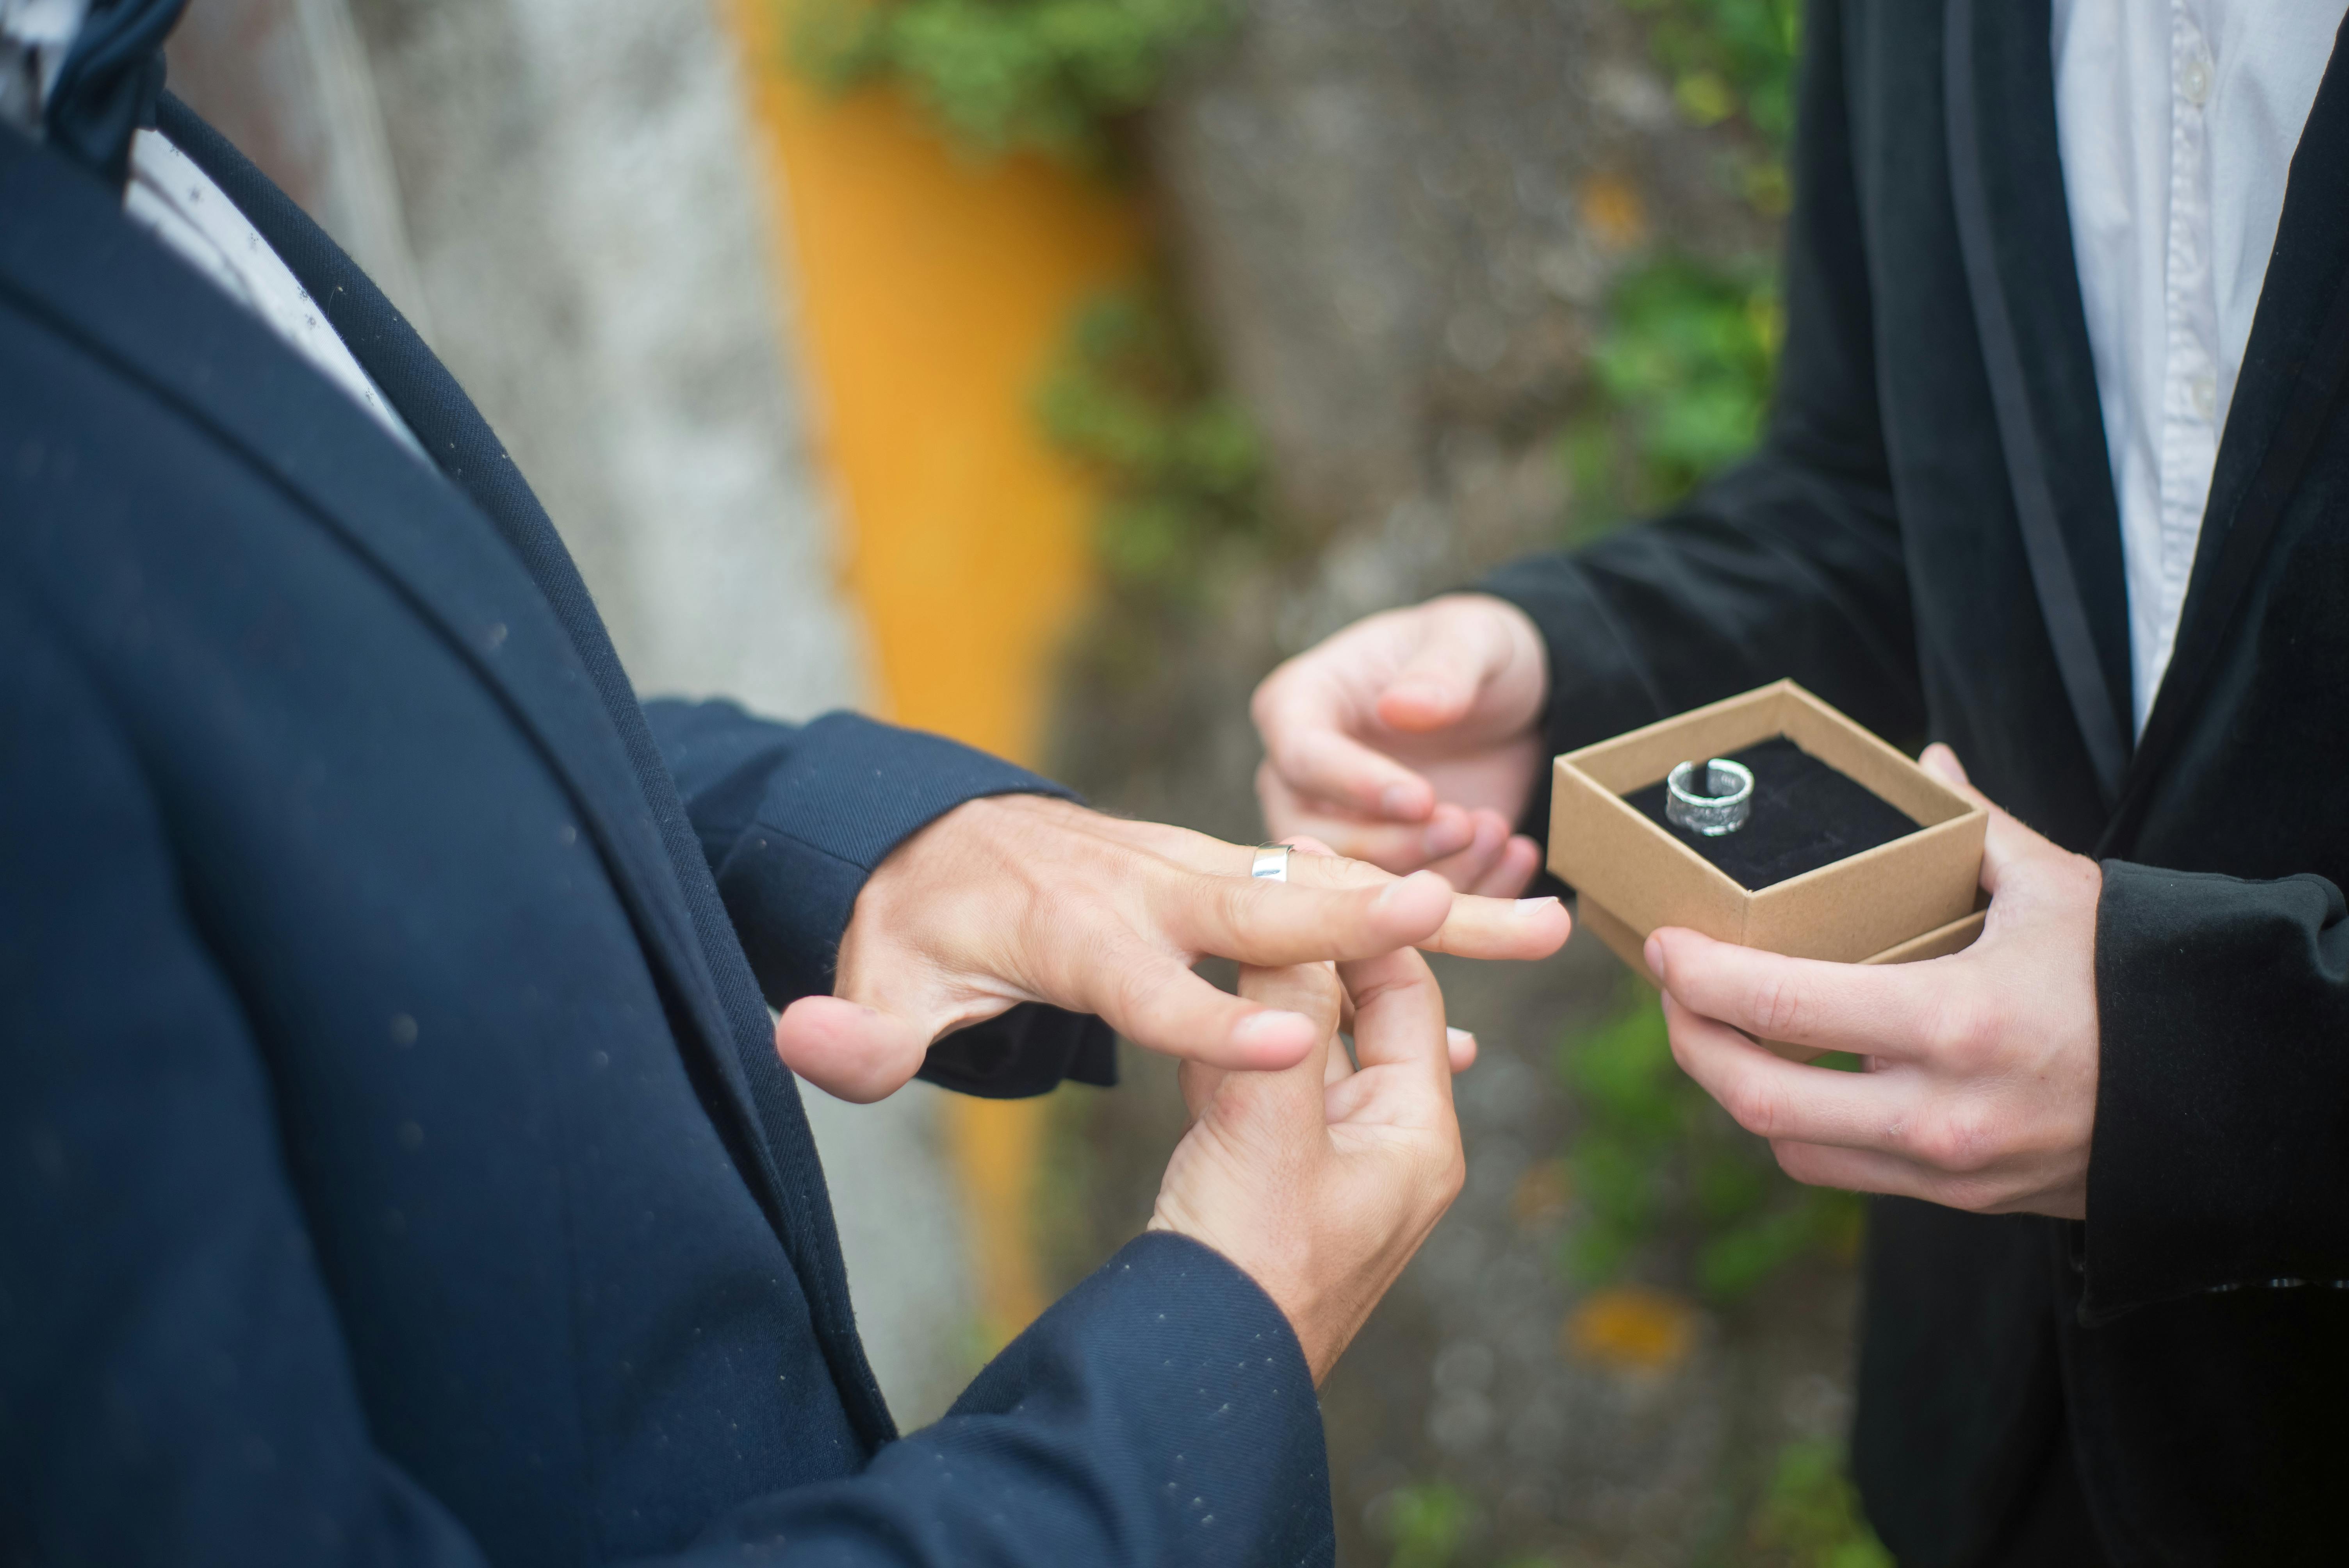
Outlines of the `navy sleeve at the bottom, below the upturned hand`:
[[893,1563],[1334,1563],[1297,1336],[1214,1251],[1144,1235],[935,1427],[853,1481],[740,1509],[705,1545],[728,1563],[763,1542],[862,1563],[869,1540],[897,1542]]

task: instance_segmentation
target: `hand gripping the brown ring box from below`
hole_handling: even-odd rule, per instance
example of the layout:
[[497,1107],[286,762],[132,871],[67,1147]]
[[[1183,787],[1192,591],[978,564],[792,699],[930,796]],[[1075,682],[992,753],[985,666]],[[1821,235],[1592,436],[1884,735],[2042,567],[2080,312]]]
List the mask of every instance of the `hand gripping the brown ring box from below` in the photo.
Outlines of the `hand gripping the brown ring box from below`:
[[[1990,807],[1980,941],[1917,965],[1823,965],[1661,930],[1647,967],[1672,1056],[1795,1181],[2086,1218],[2102,873],[1990,805],[1947,746],[1924,765]],[[1870,1070],[1755,1040],[1856,1052]]]

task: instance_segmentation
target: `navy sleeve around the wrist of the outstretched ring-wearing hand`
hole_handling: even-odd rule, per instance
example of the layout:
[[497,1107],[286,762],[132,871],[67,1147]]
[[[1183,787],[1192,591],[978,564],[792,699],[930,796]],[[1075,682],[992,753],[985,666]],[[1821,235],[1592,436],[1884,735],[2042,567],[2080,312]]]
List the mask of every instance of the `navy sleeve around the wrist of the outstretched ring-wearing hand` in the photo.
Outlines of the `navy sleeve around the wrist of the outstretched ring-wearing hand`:
[[[900,843],[963,800],[1076,798],[942,735],[857,714],[789,725],[731,702],[648,702],[644,716],[775,1007],[832,991],[864,878]],[[1118,1082],[1116,1038],[1090,1014],[1024,1002],[933,1045],[921,1077],[987,1099],[1062,1080],[1106,1087]]]

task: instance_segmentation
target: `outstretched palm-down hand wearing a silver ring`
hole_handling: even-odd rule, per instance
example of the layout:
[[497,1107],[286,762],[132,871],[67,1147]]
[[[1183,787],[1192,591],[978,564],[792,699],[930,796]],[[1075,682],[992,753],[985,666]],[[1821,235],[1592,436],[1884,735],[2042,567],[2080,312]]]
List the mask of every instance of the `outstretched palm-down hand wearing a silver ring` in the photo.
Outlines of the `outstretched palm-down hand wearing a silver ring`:
[[1153,1052],[1287,1068],[1325,1030],[1217,991],[1191,965],[1210,953],[1299,965],[1405,946],[1543,958],[1567,939],[1557,899],[1470,899],[1438,876],[1395,878],[1332,854],[1292,857],[1287,883],[1252,880],[1252,857],[1043,796],[965,800],[864,883],[834,993],[792,1002],[775,1049],[820,1089],[876,1101],[940,1035],[1017,1002],[1055,1002],[1097,1012]]

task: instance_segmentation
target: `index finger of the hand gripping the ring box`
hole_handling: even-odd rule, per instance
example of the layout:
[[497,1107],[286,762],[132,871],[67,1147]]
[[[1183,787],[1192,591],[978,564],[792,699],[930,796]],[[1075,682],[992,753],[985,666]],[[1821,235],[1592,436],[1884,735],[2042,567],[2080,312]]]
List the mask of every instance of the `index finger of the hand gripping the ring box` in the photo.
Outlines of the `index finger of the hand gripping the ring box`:
[[1945,984],[1936,965],[1830,965],[1672,927],[1647,962],[1682,1007],[1757,1040],[1893,1059],[1924,1054]]

